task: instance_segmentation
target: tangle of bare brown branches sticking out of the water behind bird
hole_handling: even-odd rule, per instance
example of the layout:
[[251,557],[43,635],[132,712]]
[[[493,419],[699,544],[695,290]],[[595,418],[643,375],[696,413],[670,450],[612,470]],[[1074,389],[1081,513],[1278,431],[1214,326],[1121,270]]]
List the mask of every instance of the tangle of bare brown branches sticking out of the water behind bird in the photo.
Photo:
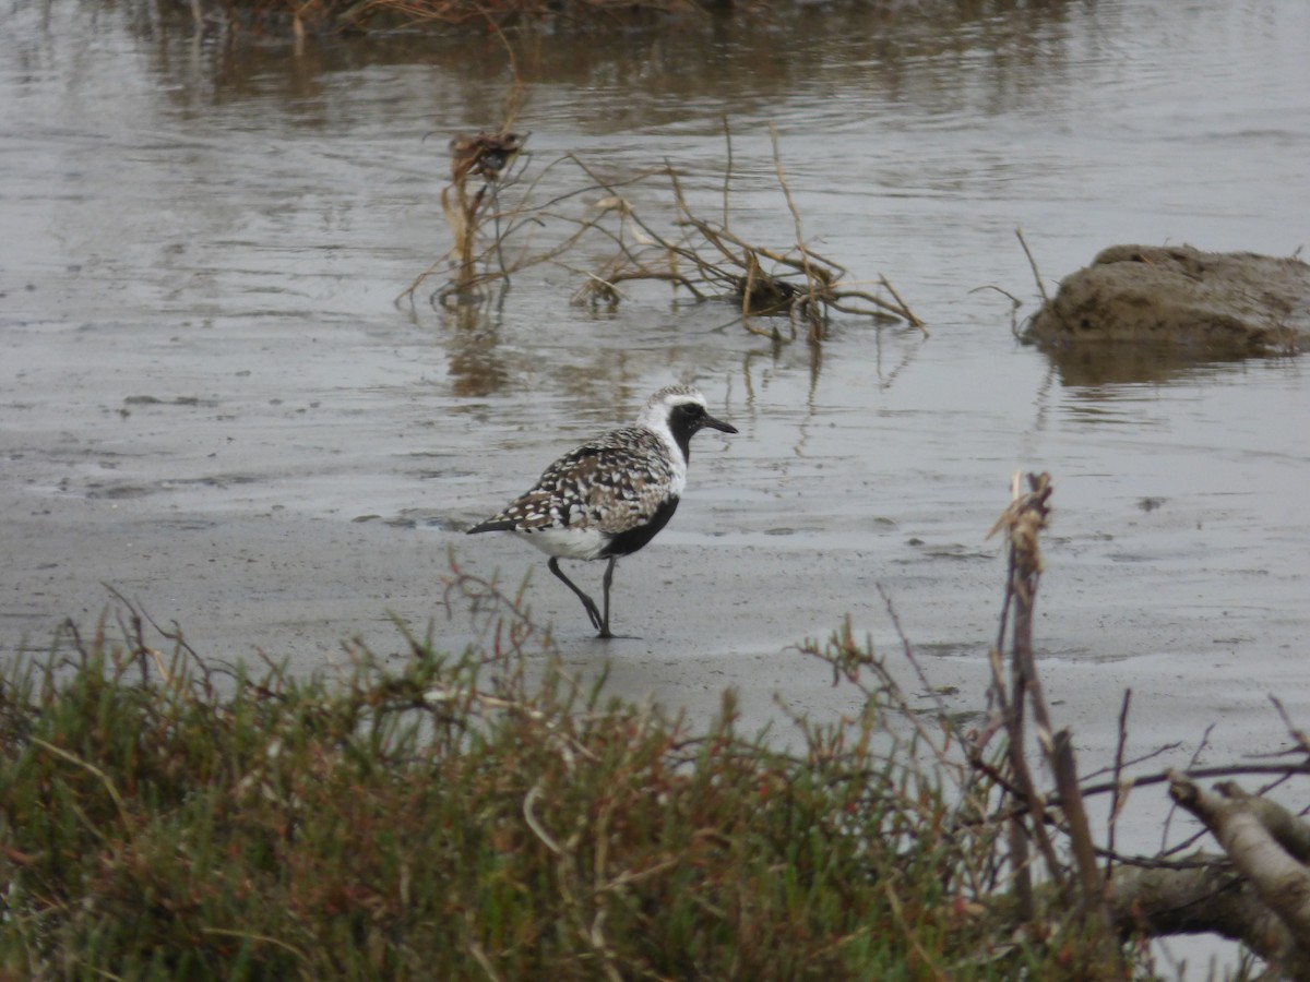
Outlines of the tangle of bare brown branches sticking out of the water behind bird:
[[[441,192],[441,203],[455,245],[424,270],[402,296],[413,296],[428,276],[448,262],[451,276],[434,293],[434,300],[444,304],[452,299],[477,296],[487,283],[508,280],[514,272],[529,266],[544,262],[565,266],[562,257],[566,253],[584,238],[599,238],[608,245],[612,255],[599,268],[572,270],[583,278],[574,293],[575,302],[613,308],[624,299],[621,284],[650,280],[685,289],[698,302],[730,301],[740,310],[741,323],[748,331],[778,340],[782,333],[777,326],[761,327],[755,318],[786,318],[790,339],[799,336],[798,329],[803,329],[811,342],[827,336],[833,312],[879,321],[904,321],[926,334],[924,323],[884,276],[878,279],[880,292],[862,289],[845,279],[845,267],[804,244],[800,212],[782,169],[776,131],[774,170],[795,230],[795,242],[786,249],[755,245],[730,228],[731,139],[719,221],[697,216],[676,169],[668,161],[626,179],[610,179],[572,153],[542,168],[527,186],[519,204],[502,209],[503,191],[517,175],[511,174],[502,181],[500,172],[520,148],[520,137],[510,132],[461,136],[452,143],[452,181]],[[542,181],[565,164],[578,168],[587,183],[534,204],[533,196]],[[483,179],[476,191],[466,186],[472,177]],[[672,229],[667,232],[643,217],[624,194],[652,178],[667,179],[673,195]],[[604,194],[604,198],[583,215],[561,209],[579,195],[595,192]],[[571,227],[571,230],[544,247],[536,246],[538,232],[561,225]]]

